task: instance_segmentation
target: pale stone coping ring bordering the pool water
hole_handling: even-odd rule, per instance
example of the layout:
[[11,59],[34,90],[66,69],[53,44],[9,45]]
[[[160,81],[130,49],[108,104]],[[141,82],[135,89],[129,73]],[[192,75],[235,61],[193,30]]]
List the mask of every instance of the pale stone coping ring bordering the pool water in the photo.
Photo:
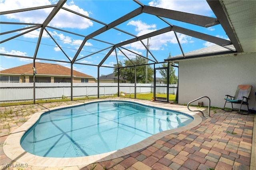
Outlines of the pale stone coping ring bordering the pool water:
[[[38,121],[39,117],[48,111],[53,111],[56,109],[63,109],[66,107],[73,107],[73,106],[79,106],[84,105],[85,103],[92,103],[95,101],[131,101],[134,103],[139,103],[142,105],[147,105],[151,107],[157,107],[160,109],[169,109],[173,111],[182,112],[185,114],[188,114],[194,118],[194,120],[183,127],[166,130],[163,132],[159,132],[157,134],[154,134],[141,142],[138,142],[136,144],[133,144],[131,146],[128,146],[126,148],[122,148],[120,150],[115,150],[112,152],[107,152],[103,154],[97,154],[92,156],[83,156],[83,157],[75,157],[75,158],[50,158],[50,157],[42,157],[42,156],[36,156],[34,154],[30,154],[26,152],[20,145],[20,140],[22,136],[25,134],[25,132]],[[164,103],[164,102],[152,102],[152,101],[144,101],[139,99],[95,99],[86,101],[84,103],[74,104],[74,105],[67,105],[67,106],[61,106],[61,107],[54,107],[51,109],[45,109],[39,112],[36,112],[32,115],[32,117],[24,123],[22,126],[14,130],[8,138],[5,140],[5,145],[3,146],[4,153],[8,158],[11,160],[14,160],[15,162],[18,162],[20,164],[26,164],[28,166],[44,166],[44,167],[63,167],[63,166],[82,166],[82,165],[88,165],[93,164],[95,162],[102,162],[106,160],[112,160],[115,158],[119,158],[128,154],[131,154],[132,152],[136,152],[140,149],[145,148],[146,146],[149,146],[150,144],[156,142],[160,138],[173,134],[175,132],[184,131],[187,129],[191,129],[193,127],[196,127],[202,122],[202,118],[197,115],[196,113],[192,113],[186,109],[186,107],[181,105],[171,105],[170,103]]]

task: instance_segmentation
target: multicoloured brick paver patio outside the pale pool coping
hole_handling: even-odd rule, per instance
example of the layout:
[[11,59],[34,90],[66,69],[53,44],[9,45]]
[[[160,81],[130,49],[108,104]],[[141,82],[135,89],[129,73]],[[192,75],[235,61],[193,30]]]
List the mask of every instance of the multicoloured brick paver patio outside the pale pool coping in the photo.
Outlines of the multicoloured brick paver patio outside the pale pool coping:
[[[0,169],[19,169],[4,167],[9,163],[14,165],[17,163],[10,160],[3,152],[3,145],[6,144],[4,141],[14,129],[37,111],[74,103],[78,101],[0,107]],[[204,111],[205,115],[207,112]],[[255,152],[255,148],[252,149],[254,115],[214,109],[211,111],[211,116],[202,117],[202,123],[192,129],[170,134],[150,146],[113,160],[85,167],[28,166],[22,169],[90,170],[94,166],[94,170],[250,170],[255,168],[255,162],[252,162],[254,166],[250,167],[251,155]]]

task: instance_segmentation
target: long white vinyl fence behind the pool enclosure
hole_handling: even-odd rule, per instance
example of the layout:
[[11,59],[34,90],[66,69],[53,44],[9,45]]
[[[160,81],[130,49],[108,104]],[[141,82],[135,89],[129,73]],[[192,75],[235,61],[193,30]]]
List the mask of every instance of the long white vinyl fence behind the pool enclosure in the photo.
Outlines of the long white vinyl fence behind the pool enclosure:
[[[161,84],[164,86],[164,84]],[[169,86],[169,93],[176,94],[177,85]],[[119,92],[134,94],[134,83],[120,83]],[[153,84],[136,84],[136,93],[153,92]],[[118,83],[100,83],[100,96],[118,93]],[[156,93],[165,93],[166,87],[156,87]],[[73,97],[98,95],[98,83],[73,83]],[[33,100],[33,83],[0,83],[0,101]],[[36,83],[36,100],[61,99],[71,96],[70,83]]]

